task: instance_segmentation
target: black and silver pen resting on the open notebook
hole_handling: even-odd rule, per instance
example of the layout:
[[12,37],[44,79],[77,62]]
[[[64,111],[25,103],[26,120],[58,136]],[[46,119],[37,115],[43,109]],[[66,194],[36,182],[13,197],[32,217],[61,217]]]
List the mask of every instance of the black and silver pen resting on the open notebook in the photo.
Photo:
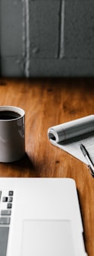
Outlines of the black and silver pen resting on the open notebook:
[[83,146],[83,144],[80,144],[80,149],[83,152],[84,157],[86,158],[86,161],[89,165],[91,174],[94,175],[94,165],[93,165],[92,160],[89,156],[89,152],[86,150],[86,148],[85,148],[85,146]]

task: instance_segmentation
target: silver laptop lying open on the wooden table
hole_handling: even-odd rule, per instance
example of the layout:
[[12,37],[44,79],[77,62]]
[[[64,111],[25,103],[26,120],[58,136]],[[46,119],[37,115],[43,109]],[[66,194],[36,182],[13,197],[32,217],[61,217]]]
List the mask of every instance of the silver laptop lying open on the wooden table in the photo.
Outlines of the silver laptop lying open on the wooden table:
[[0,178],[0,256],[86,256],[71,178]]

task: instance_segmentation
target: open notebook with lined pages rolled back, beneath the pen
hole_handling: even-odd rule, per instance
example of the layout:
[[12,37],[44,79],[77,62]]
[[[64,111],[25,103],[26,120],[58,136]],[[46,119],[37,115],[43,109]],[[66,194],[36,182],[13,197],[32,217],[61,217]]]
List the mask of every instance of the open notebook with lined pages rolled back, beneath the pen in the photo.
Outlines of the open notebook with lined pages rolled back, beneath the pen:
[[52,126],[48,130],[48,137],[53,145],[74,155],[87,165],[86,158],[80,150],[80,143],[83,143],[94,162],[94,115]]

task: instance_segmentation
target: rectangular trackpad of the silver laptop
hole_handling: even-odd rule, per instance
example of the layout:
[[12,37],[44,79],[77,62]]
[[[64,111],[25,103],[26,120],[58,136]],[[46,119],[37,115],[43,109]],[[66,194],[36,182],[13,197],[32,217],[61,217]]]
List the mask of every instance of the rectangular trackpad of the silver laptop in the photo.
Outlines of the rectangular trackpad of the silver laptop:
[[71,222],[24,220],[22,256],[74,256]]

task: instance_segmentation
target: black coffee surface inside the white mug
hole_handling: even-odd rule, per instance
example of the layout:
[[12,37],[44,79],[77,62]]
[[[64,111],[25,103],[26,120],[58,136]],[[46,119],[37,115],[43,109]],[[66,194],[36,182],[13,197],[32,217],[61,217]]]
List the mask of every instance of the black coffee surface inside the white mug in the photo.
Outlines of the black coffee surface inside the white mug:
[[12,120],[20,117],[20,114],[11,110],[0,111],[0,120]]

